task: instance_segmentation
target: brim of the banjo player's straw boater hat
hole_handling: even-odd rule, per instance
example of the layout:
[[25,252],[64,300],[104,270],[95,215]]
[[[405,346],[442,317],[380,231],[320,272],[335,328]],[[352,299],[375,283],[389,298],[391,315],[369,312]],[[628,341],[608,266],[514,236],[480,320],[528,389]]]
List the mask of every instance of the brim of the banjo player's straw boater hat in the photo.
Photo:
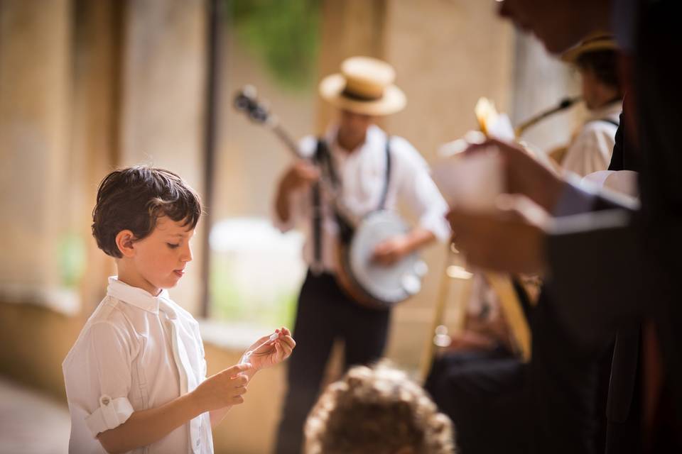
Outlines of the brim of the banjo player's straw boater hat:
[[386,87],[384,96],[376,101],[358,101],[344,96],[345,87],[346,79],[342,74],[331,74],[320,82],[320,96],[337,109],[371,116],[395,114],[403,110],[407,104],[404,92],[396,85]]

